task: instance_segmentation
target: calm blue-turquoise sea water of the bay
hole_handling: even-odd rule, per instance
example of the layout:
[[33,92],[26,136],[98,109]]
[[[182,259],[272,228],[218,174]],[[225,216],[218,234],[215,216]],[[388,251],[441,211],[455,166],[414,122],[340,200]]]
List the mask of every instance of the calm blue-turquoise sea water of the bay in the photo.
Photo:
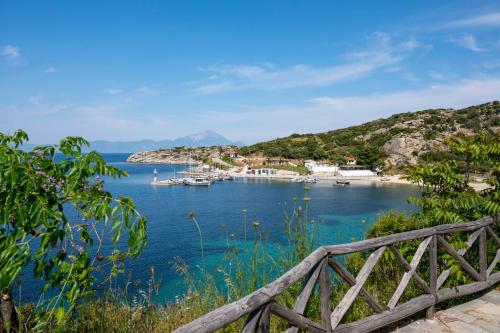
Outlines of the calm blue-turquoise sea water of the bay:
[[[304,197],[304,185],[292,182],[237,179],[218,182],[210,187],[184,185],[153,187],[153,169],[159,178],[171,178],[183,166],[129,164],[128,154],[104,154],[107,162],[128,172],[129,177],[107,179],[106,189],[115,195],[130,196],[148,224],[148,245],[142,255],[126,264],[131,289],[145,288],[148,270],[154,267],[162,280],[160,301],[173,300],[184,292],[183,284],[174,271],[172,261],[181,257],[192,267],[200,264],[197,230],[188,219],[196,212],[205,241],[206,265],[215,271],[226,249],[226,232],[235,233],[236,242],[244,239],[243,213],[248,221],[257,220],[270,242],[284,241],[285,212],[291,212],[293,198]],[[416,187],[390,184],[333,186],[332,183],[308,184],[312,198],[309,216],[321,221],[320,243],[338,244],[359,240],[377,215],[391,209],[411,211],[410,196],[418,196]],[[221,226],[225,225],[225,228]],[[249,230],[250,226],[247,227]],[[249,231],[250,233],[251,231]],[[109,250],[109,249],[108,249]],[[23,293],[34,296],[40,290],[28,274],[24,277]],[[31,281],[30,281],[31,280]],[[142,284],[139,282],[142,281]]]

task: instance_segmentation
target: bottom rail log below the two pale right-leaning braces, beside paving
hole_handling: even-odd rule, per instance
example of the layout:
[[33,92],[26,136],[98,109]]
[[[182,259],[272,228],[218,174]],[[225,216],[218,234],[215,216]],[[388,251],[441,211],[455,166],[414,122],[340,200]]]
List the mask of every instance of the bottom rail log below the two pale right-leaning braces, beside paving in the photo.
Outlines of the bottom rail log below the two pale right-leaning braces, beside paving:
[[395,323],[407,318],[412,314],[422,311],[434,304],[434,297],[422,295],[398,305],[392,310],[377,313],[372,316],[357,320],[349,324],[341,324],[335,329],[335,333],[365,333]]

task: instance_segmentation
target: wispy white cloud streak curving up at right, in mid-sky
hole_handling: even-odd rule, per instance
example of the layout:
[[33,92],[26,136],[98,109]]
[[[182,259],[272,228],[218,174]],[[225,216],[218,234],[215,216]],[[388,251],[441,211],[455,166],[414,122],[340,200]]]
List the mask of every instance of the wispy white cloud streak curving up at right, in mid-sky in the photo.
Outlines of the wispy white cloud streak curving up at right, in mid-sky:
[[236,90],[280,90],[297,87],[328,86],[355,80],[380,68],[391,68],[417,48],[423,47],[415,38],[392,43],[391,37],[375,32],[367,38],[368,46],[342,56],[344,63],[331,66],[298,64],[285,68],[264,65],[216,65],[199,67],[208,77],[196,84],[196,94],[215,94]]

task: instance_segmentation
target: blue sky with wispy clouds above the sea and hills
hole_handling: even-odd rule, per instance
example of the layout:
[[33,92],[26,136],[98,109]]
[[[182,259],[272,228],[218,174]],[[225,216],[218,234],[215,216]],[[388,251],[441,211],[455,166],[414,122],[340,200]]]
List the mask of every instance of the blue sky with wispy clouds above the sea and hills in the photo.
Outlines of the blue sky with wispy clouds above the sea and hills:
[[252,143],[500,98],[497,1],[0,2],[0,131]]

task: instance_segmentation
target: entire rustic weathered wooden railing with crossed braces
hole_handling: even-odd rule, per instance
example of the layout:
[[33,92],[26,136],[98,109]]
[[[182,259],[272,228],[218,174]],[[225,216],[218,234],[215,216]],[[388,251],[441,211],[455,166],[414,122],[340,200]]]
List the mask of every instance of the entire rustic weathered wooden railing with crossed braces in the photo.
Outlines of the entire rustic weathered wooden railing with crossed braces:
[[[422,310],[427,310],[428,317],[432,317],[434,306],[437,303],[479,292],[500,281],[500,272],[493,272],[500,259],[500,237],[492,229],[492,225],[497,222],[498,217],[487,217],[473,222],[439,225],[355,243],[320,247],[275,281],[238,301],[222,306],[180,327],[175,332],[213,332],[230,325],[245,315],[248,317],[242,332],[269,332],[272,314],[288,322],[288,333],[295,333],[299,329],[309,332],[369,332],[400,321]],[[459,250],[454,249],[446,240],[446,235],[455,232],[472,232],[465,246]],[[487,262],[487,237],[492,239],[496,251],[496,256],[489,264]],[[478,238],[479,271],[464,259],[465,253]],[[421,242],[413,258],[408,262],[398,251],[396,244],[410,240],[421,240]],[[475,281],[452,288],[442,288],[453,267],[448,265],[439,272],[438,247],[449,254],[455,263],[458,263]],[[336,258],[366,250],[373,250],[373,252],[368,256],[356,277],[352,276],[342,266],[342,261]],[[406,273],[399,281],[399,285],[387,305],[380,304],[363,287],[385,251],[392,252],[406,269]],[[429,255],[429,271],[426,274],[428,281],[417,272],[420,260],[426,252]],[[332,269],[338,277],[350,285],[333,311],[331,311],[330,304],[329,269]],[[424,294],[403,304],[398,304],[411,278],[415,279]],[[293,308],[289,309],[277,303],[275,298],[300,279],[304,279],[304,283]],[[314,322],[303,315],[316,284],[319,285],[321,323]],[[357,296],[363,297],[375,314],[351,323],[341,323]]]

